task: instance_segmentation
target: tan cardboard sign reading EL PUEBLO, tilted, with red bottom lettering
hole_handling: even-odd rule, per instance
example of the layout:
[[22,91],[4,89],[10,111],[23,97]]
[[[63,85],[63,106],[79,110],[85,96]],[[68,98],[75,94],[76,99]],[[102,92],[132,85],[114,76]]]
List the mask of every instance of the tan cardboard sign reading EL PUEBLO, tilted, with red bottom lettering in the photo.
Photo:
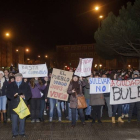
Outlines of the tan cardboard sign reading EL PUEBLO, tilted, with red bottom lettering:
[[72,79],[73,72],[53,69],[48,97],[67,101],[67,89]]

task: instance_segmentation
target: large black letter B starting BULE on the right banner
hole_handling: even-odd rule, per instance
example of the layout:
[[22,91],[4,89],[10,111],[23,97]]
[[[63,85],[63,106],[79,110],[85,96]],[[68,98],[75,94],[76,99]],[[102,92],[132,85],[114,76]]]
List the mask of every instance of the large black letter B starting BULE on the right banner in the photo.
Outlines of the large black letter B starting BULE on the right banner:
[[[118,101],[121,99],[121,96],[122,96],[122,88],[119,88],[119,87],[112,87],[112,90],[113,90],[113,99],[114,101]],[[116,94],[119,94],[119,97],[116,98]]]

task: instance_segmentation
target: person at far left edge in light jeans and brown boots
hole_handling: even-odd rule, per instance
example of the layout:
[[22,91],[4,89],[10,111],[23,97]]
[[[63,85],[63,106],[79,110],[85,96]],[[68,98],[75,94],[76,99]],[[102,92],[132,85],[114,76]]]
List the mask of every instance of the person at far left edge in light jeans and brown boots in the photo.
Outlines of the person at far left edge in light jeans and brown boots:
[[6,90],[7,90],[8,82],[4,78],[3,71],[0,71],[0,111],[1,111],[1,122],[6,123]]

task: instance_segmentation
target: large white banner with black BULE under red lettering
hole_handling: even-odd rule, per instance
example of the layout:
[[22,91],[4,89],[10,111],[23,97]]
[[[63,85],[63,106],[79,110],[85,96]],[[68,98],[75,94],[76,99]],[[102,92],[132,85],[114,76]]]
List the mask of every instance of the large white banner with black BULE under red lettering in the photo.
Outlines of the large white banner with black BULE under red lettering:
[[140,101],[140,79],[111,81],[110,104],[126,104]]

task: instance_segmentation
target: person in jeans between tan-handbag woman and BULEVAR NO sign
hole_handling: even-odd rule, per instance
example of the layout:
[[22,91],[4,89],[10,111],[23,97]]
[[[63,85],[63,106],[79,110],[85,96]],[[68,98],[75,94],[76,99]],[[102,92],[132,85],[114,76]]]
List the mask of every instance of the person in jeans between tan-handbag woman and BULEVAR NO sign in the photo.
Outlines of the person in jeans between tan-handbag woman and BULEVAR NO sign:
[[85,82],[85,87],[84,87],[84,96],[86,99],[86,103],[87,103],[87,108],[85,109],[85,120],[88,119],[92,119],[91,115],[91,106],[89,105],[90,103],[90,84],[89,84],[89,78],[91,78],[92,75],[90,77],[87,77],[84,79]]

